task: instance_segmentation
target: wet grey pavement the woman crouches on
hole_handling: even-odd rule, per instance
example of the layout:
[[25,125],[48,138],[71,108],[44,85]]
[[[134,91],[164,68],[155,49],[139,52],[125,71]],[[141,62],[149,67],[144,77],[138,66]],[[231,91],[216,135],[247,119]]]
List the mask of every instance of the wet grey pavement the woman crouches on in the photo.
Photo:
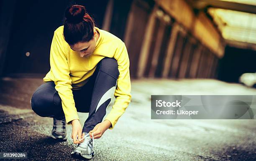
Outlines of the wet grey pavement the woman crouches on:
[[[70,156],[72,126],[67,126],[67,141],[56,141],[50,137],[52,118],[30,108],[40,79],[4,78],[0,83],[1,152],[27,152],[26,160],[79,160]],[[256,90],[216,80],[134,80],[130,105],[115,128],[95,140],[91,160],[256,160],[255,120],[151,120],[151,95],[179,94],[256,95]],[[82,125],[87,116],[79,113]]]

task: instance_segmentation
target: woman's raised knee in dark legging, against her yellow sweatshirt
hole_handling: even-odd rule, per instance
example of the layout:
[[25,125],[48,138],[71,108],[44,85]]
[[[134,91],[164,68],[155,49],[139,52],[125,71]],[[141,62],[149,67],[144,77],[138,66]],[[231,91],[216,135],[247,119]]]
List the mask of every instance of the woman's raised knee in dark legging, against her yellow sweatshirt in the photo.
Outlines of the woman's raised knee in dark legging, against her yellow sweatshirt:
[[103,58],[100,62],[100,70],[118,78],[118,63],[114,58]]

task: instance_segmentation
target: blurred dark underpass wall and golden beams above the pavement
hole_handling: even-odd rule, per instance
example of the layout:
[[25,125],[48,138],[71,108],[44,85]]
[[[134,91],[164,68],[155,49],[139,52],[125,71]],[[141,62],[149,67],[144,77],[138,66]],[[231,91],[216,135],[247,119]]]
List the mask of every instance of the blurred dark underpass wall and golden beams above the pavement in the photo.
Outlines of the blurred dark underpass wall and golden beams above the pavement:
[[0,76],[43,77],[54,30],[71,4],[122,39],[132,78],[214,78],[256,72],[254,0],[1,0]]

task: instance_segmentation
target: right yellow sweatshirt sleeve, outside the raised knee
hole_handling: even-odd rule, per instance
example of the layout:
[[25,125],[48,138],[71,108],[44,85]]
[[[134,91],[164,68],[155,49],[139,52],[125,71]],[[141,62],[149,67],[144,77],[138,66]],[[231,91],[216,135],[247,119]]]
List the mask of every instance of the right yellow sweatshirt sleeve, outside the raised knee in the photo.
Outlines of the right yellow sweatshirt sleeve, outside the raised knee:
[[122,42],[118,46],[115,54],[115,60],[118,63],[119,76],[114,96],[116,98],[112,110],[106,116],[105,120],[109,120],[112,124],[109,129],[113,129],[118,119],[125,112],[128,104],[131,102],[131,80],[130,80],[130,61],[125,44]]

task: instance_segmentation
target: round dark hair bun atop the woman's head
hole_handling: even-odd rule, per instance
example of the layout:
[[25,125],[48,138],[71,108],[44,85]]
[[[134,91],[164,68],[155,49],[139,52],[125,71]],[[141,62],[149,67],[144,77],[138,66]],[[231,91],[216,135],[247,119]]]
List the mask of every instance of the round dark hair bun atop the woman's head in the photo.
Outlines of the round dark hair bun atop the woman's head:
[[80,23],[86,13],[84,6],[82,5],[72,5],[67,8],[65,16],[69,23]]

